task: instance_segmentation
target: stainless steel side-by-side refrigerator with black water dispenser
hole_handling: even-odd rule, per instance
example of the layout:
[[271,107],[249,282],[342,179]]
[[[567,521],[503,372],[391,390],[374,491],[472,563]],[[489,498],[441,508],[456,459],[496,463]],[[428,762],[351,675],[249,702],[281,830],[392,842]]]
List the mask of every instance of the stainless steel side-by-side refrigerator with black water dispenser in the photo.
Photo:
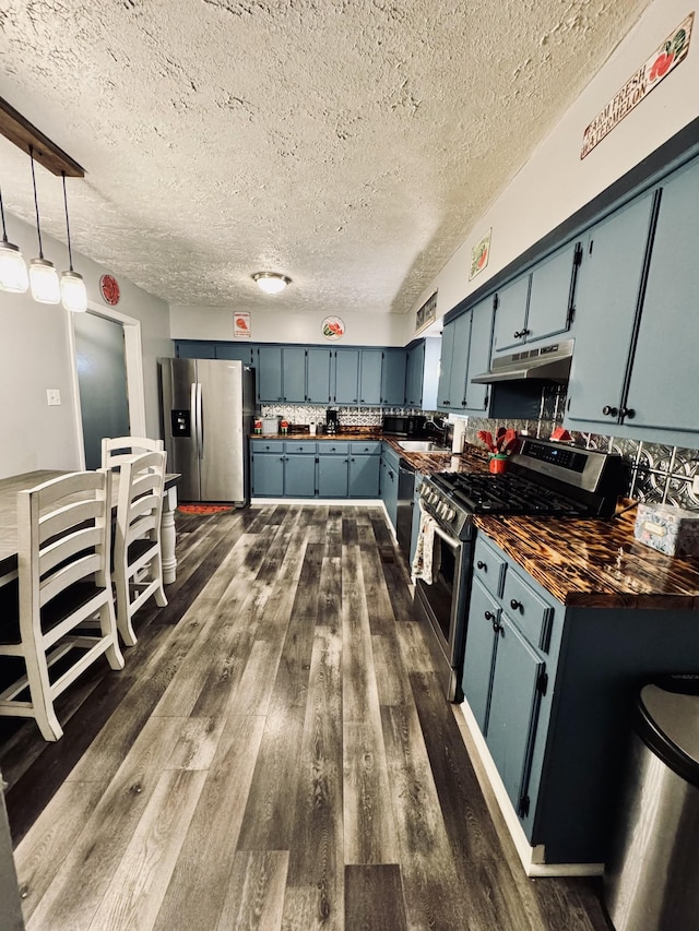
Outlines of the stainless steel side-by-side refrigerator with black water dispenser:
[[158,359],[167,470],[181,501],[250,500],[254,369],[224,359]]

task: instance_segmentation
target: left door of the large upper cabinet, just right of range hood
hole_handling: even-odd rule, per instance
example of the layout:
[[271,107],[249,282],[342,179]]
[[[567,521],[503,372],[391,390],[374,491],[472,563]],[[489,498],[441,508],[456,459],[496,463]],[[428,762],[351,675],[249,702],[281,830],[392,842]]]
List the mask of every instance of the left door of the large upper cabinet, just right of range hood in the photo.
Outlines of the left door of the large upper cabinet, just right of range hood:
[[651,192],[593,227],[584,243],[568,384],[574,429],[619,422],[652,206]]

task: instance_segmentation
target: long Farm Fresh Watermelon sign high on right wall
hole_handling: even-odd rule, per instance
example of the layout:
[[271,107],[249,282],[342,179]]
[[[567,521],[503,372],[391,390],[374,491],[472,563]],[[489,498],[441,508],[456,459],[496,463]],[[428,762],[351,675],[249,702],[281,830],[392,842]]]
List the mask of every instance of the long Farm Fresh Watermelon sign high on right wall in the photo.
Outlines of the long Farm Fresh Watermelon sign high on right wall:
[[629,77],[602,112],[597,114],[592,120],[582,135],[580,158],[589,155],[595,145],[602,142],[604,136],[612,132],[624,117],[638,106],[647,94],[650,94],[653,87],[660,84],[663,77],[666,77],[674,68],[677,68],[687,58],[694,20],[695,14],[690,13],[661,47],[655,49],[636,74]]

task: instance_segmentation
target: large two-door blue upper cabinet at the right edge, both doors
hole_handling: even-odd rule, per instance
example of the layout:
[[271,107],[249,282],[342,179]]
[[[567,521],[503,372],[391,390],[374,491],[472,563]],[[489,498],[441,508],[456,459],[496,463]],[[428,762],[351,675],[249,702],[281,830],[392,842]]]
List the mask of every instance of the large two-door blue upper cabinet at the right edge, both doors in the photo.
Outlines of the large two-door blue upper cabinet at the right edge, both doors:
[[620,438],[696,446],[698,241],[699,160],[593,228],[580,270],[571,428],[602,423]]

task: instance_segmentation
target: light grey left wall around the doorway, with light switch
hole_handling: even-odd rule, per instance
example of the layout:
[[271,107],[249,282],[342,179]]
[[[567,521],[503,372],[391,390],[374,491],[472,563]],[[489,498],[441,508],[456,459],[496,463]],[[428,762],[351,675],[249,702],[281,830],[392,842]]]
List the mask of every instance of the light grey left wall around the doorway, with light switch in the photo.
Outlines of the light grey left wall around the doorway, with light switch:
[[[28,261],[37,255],[36,229],[5,214],[8,238]],[[42,236],[44,255],[59,272],[67,267],[66,246]],[[88,302],[102,309],[99,278],[115,274],[73,253],[73,266],[87,287]],[[115,274],[121,288],[118,310],[141,321],[146,428],[159,435],[157,356],[173,355],[167,305]],[[71,315],[58,305],[36,303],[31,295],[0,291],[0,478],[39,468],[73,469],[80,443],[70,353]],[[61,405],[49,407],[47,389],[58,389]]]

